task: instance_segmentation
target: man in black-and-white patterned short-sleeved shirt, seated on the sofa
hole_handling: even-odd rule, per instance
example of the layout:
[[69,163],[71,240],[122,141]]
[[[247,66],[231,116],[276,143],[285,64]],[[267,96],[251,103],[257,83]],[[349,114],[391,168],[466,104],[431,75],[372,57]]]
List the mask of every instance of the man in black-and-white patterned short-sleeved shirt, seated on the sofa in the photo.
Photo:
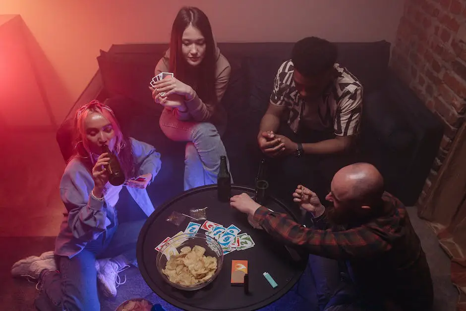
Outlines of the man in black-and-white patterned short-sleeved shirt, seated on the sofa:
[[350,151],[359,132],[362,86],[336,60],[334,44],[304,38],[275,77],[257,140],[264,154],[277,158],[271,171],[289,186],[274,189],[282,197],[290,198],[298,183],[323,194],[335,172],[353,162]]

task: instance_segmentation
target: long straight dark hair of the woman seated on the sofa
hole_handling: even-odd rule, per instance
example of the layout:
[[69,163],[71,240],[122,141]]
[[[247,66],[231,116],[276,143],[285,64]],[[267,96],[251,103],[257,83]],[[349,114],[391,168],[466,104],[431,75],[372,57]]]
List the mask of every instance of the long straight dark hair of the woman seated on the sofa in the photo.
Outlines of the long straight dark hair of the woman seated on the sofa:
[[181,44],[184,30],[189,26],[199,29],[205,38],[206,53],[199,70],[194,78],[197,81],[196,92],[204,102],[216,101],[215,95],[215,67],[216,47],[212,27],[207,15],[197,7],[185,6],[181,8],[173,21],[172,37],[170,40],[170,71],[176,79],[187,83],[187,77],[192,77],[192,70],[181,52]]

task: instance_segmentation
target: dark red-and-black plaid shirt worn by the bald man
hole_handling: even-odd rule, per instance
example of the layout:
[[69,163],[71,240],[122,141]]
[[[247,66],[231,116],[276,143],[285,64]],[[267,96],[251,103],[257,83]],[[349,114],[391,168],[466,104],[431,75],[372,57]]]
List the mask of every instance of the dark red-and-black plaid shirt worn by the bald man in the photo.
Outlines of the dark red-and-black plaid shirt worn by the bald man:
[[259,207],[254,214],[265,231],[310,254],[345,259],[351,278],[365,300],[389,300],[401,310],[430,310],[433,301],[429,266],[406,208],[389,193],[384,209],[366,223],[328,228],[326,213],[306,228],[287,214]]

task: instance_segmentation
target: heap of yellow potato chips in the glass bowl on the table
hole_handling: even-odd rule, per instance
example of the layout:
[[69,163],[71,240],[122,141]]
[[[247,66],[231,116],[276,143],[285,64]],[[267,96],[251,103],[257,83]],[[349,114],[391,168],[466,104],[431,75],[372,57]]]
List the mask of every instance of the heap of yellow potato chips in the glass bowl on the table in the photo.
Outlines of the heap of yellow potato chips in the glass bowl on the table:
[[179,255],[170,256],[162,272],[170,282],[192,286],[209,280],[217,270],[217,259],[205,256],[205,248],[188,246],[181,248]]

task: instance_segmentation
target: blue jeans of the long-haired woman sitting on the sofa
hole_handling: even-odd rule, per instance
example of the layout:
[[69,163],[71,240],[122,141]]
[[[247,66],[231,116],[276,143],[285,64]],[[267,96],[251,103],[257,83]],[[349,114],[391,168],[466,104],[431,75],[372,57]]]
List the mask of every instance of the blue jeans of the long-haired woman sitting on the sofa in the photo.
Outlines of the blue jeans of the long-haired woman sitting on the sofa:
[[[174,112],[164,109],[159,123],[165,136],[176,142],[187,142],[184,153],[184,190],[216,184],[220,156],[227,155],[217,127],[209,122],[180,121]],[[227,162],[230,167],[228,157]]]

